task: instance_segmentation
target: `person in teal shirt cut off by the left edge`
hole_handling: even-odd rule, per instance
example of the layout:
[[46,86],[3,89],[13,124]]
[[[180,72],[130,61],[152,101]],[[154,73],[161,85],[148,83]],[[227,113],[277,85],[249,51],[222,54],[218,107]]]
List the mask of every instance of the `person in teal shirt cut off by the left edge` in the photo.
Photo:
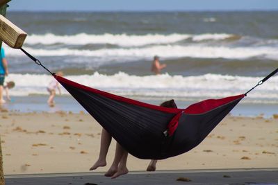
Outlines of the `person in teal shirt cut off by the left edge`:
[[6,102],[3,99],[3,84],[4,84],[6,76],[8,76],[8,62],[5,57],[5,51],[3,48],[1,48],[1,53],[0,53],[0,104]]

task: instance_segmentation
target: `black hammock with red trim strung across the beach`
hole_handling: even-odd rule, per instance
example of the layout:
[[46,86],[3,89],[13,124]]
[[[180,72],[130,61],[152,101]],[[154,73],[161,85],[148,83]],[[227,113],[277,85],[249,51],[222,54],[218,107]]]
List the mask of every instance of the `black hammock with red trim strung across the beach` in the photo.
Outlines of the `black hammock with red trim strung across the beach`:
[[166,159],[195,148],[245,96],[204,100],[186,109],[174,109],[54,77],[123,148],[140,159]]

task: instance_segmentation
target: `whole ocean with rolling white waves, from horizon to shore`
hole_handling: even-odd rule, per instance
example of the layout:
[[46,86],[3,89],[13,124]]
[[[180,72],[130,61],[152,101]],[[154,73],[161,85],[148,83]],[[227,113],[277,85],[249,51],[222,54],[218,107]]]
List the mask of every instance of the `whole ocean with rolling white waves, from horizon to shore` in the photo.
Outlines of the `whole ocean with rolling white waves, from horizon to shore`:
[[[187,106],[244,94],[278,67],[276,11],[8,12],[6,17],[28,33],[23,48],[50,71],[147,103],[174,98]],[[22,51],[3,48],[7,81],[16,83],[10,89],[16,101],[6,106],[24,110],[15,104],[31,97],[40,97],[31,111],[41,107],[39,102],[46,104],[52,77]],[[150,71],[154,55],[167,64],[159,76]],[[59,100],[74,101],[62,92],[57,106]],[[237,114],[278,113],[278,76],[250,92],[242,104],[249,108]]]

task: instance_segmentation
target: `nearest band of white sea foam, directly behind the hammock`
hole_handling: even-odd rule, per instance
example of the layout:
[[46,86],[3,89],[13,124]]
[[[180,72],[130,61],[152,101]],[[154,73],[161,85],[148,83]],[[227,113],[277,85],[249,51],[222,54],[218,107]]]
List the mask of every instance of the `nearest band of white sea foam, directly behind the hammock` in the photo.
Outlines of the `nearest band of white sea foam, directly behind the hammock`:
[[[51,76],[35,74],[10,74],[7,81],[14,80],[16,86],[10,89],[12,96],[28,96],[44,94],[51,81]],[[204,76],[133,76],[127,73],[116,73],[107,76],[95,72],[92,75],[66,76],[70,80],[83,85],[109,91],[120,96],[144,96],[147,98],[170,97],[190,98],[221,98],[244,94],[256,85],[263,77],[222,76],[206,74]],[[278,76],[270,78],[256,90],[248,94],[251,100],[267,100],[278,102]],[[63,94],[68,95],[63,89]]]

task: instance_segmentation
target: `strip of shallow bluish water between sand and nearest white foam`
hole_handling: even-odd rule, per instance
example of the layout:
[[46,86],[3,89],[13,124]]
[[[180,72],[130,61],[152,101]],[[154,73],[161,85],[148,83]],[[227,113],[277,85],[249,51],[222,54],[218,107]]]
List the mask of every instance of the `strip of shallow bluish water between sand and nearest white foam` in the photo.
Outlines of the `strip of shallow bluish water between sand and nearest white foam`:
[[[145,103],[160,105],[166,98],[142,98],[142,97],[129,97],[136,98]],[[71,96],[57,96],[55,98],[56,105],[49,107],[47,105],[46,96],[15,96],[12,101],[3,105],[2,108],[9,109],[13,112],[26,113],[26,112],[86,112],[86,110]],[[186,108],[196,100],[176,100],[177,106]],[[272,118],[273,114],[277,114],[277,104],[262,104],[262,103],[248,103],[243,99],[234,109],[231,110],[232,116],[263,116],[264,118]]]

